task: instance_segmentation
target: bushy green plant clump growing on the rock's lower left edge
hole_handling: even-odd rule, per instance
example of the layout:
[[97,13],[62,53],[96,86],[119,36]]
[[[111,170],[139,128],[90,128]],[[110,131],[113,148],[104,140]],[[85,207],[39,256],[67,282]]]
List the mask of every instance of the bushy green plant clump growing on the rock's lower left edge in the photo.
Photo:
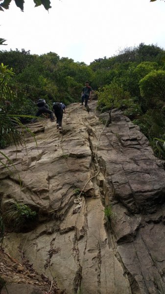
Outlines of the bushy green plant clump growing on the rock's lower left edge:
[[13,230],[20,231],[29,221],[34,221],[36,216],[36,211],[32,211],[27,205],[15,201],[3,213],[3,220]]

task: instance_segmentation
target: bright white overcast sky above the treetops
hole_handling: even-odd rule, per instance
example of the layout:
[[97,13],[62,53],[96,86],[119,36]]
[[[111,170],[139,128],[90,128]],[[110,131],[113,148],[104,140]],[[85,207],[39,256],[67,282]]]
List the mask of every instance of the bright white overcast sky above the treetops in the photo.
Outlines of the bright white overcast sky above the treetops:
[[49,12],[25,0],[24,12],[12,1],[0,11],[0,37],[7,46],[49,51],[86,64],[111,57],[141,42],[165,48],[165,2],[157,0],[51,0]]

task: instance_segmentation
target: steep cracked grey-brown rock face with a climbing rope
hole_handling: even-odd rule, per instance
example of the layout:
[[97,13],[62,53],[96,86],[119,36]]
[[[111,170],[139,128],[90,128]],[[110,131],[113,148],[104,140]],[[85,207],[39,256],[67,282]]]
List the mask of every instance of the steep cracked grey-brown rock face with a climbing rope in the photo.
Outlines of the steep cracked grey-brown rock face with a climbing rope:
[[5,150],[17,170],[1,167],[1,210],[14,196],[39,222],[7,234],[4,250],[20,262],[24,253],[66,294],[163,294],[165,171],[138,126],[113,111],[104,127],[95,105],[68,107],[63,134],[35,123],[37,147],[27,138],[26,148]]

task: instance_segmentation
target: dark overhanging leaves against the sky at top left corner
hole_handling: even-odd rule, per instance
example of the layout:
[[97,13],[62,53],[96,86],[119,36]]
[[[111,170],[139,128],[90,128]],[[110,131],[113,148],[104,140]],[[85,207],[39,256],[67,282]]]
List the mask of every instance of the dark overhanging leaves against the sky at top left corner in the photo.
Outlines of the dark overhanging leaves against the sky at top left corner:
[[[21,9],[21,11],[24,11],[24,0],[14,0],[17,7]],[[33,0],[35,3],[35,7],[43,5],[46,10],[51,8],[50,6],[50,0]],[[0,0],[0,10],[4,11],[4,9],[9,9],[11,0]]]

